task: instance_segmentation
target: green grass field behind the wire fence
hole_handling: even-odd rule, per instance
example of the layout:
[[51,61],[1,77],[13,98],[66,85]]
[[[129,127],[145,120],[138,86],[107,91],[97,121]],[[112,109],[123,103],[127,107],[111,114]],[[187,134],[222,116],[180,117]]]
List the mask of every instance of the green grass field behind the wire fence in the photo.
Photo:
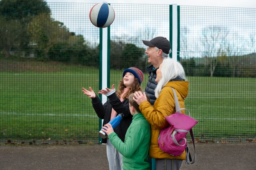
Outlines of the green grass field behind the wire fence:
[[[99,90],[99,69],[36,61],[0,64],[0,141],[97,141],[99,119],[81,88]],[[111,70],[118,87],[121,70]],[[256,78],[188,77],[186,108],[198,141],[256,138]],[[146,86],[144,73],[142,87]]]

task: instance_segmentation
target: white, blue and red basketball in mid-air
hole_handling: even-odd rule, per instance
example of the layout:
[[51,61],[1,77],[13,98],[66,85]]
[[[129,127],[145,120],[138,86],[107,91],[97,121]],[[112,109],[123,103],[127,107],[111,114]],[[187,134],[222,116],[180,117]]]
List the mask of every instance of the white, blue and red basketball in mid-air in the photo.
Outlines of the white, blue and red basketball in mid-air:
[[91,8],[89,17],[94,26],[105,28],[115,20],[115,11],[109,4],[101,2]]

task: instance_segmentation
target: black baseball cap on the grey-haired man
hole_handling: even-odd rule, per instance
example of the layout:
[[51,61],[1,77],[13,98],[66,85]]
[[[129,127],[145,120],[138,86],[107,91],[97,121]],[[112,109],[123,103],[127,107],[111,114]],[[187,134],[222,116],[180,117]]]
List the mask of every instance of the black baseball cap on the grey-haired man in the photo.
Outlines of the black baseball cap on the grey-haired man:
[[164,53],[169,54],[169,52],[171,52],[171,44],[170,41],[168,41],[168,39],[166,39],[165,37],[155,37],[153,39],[151,39],[150,41],[148,40],[142,40],[143,43],[146,46],[149,47],[157,47],[161,50],[163,50]]

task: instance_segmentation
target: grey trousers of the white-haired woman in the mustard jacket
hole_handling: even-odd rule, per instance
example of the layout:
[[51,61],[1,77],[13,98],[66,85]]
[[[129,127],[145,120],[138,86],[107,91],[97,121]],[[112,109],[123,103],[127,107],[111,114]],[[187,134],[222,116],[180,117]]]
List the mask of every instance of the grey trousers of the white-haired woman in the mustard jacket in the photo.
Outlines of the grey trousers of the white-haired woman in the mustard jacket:
[[179,170],[181,163],[180,159],[155,159],[156,170]]

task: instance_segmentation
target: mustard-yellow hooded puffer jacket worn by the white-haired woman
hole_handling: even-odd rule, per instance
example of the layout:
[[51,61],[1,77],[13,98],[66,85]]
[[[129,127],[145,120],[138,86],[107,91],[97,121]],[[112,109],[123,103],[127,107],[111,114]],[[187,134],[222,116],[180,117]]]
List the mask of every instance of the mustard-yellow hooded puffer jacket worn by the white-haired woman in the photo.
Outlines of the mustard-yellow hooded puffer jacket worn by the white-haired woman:
[[159,97],[155,100],[154,106],[152,106],[148,101],[144,101],[139,105],[139,109],[151,126],[149,156],[156,159],[184,160],[186,157],[185,151],[180,156],[175,157],[161,150],[157,143],[160,130],[169,125],[165,117],[176,112],[173,90],[170,87],[173,87],[177,93],[180,108],[185,108],[184,99],[189,93],[189,82],[170,81],[162,89]]

